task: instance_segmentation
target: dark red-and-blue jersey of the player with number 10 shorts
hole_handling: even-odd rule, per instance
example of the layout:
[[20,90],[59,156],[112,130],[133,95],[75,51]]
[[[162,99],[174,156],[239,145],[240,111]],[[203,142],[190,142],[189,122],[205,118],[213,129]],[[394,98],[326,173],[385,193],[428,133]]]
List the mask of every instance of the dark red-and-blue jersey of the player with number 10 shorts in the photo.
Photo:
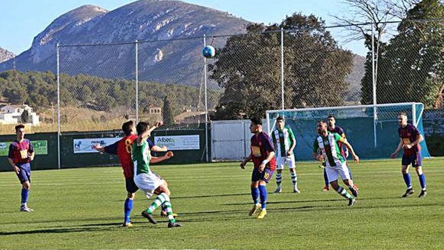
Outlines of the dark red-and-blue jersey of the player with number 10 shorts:
[[[258,135],[253,135],[251,137],[251,158],[255,168],[258,168],[262,161],[267,158],[270,152],[274,152],[273,143],[271,142],[270,136],[268,136],[264,131],[260,132]],[[274,171],[276,168],[276,159],[273,157],[265,165],[265,168]]]

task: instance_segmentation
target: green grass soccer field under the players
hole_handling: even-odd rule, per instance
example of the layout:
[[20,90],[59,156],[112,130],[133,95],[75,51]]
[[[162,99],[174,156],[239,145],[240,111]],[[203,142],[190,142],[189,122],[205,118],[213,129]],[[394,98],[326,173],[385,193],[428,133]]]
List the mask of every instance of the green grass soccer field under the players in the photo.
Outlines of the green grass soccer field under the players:
[[[251,164],[163,165],[153,169],[170,183],[181,228],[152,225],[140,215],[152,201],[136,194],[134,227],[120,227],[126,196],[119,167],[34,171],[29,207],[19,212],[20,186],[0,173],[0,249],[442,249],[444,158],[423,160],[428,195],[400,198],[400,160],[351,164],[360,193],[353,207],[335,191],[323,192],[315,162],[298,165],[291,193],[288,170],[281,194],[268,195],[263,220],[247,215]],[[274,176],[268,191],[275,188]],[[157,215],[157,213],[156,213]]]

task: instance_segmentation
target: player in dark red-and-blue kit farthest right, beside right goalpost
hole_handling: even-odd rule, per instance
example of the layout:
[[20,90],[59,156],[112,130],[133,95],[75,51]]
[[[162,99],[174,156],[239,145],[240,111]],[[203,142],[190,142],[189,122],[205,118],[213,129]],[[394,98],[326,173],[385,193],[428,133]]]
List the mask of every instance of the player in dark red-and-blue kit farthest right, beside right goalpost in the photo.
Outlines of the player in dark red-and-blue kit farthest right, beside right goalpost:
[[412,164],[412,167],[415,168],[416,174],[419,177],[419,183],[421,184],[421,193],[418,197],[425,197],[427,195],[427,191],[425,176],[422,172],[421,146],[419,145],[419,142],[421,142],[424,137],[415,126],[407,123],[407,113],[401,112],[399,114],[398,123],[400,125],[398,128],[400,142],[391,157],[395,158],[398,152],[401,151],[401,148],[404,148],[404,155],[401,163],[401,172],[404,177],[404,182],[407,185],[407,190],[402,196],[407,197],[414,193],[412,180],[409,173],[409,165]]

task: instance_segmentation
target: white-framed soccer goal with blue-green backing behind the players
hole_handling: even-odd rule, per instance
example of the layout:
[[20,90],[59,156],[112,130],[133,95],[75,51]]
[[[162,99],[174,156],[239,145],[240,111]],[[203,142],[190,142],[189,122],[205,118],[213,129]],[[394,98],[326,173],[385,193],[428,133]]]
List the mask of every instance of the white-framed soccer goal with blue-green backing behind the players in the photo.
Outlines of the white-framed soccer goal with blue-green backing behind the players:
[[[337,126],[345,130],[347,139],[357,154],[365,159],[389,158],[399,143],[398,114],[407,113],[408,122],[424,136],[422,103],[356,105],[340,107],[269,110],[266,112],[268,133],[275,129],[276,118],[282,116],[295,133],[295,154],[299,160],[311,160],[312,144],[316,137],[316,122],[336,117]],[[420,143],[422,157],[430,157],[424,140]],[[402,154],[400,153],[399,156]]]

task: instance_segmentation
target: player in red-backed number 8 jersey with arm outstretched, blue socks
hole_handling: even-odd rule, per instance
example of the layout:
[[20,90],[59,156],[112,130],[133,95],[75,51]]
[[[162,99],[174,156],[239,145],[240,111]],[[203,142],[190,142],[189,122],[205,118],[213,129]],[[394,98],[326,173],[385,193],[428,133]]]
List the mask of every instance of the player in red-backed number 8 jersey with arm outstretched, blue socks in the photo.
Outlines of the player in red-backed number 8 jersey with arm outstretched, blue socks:
[[[155,126],[152,126],[151,129],[157,128],[159,126],[161,126],[161,123],[158,122]],[[131,210],[133,209],[133,200],[136,191],[139,189],[134,183],[134,166],[133,161],[131,160],[132,144],[133,141],[137,138],[136,126],[133,121],[127,121],[122,125],[122,130],[125,133],[125,137],[123,137],[119,141],[104,147],[101,147],[100,144],[97,144],[94,146],[94,148],[101,153],[117,155],[119,157],[119,162],[122,166],[123,174],[125,176],[126,190],[128,192],[124,205],[125,220],[123,226],[131,227],[132,223],[130,216]],[[148,144],[151,151],[167,151],[167,147],[156,146],[150,140],[148,140]]]

